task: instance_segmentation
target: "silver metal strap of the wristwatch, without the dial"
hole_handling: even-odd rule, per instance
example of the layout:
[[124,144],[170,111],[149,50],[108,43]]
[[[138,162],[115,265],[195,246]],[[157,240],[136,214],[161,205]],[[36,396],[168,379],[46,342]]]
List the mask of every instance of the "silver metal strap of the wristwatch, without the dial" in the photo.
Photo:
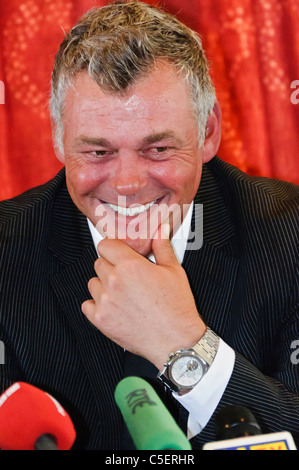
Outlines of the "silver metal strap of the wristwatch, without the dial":
[[179,392],[179,387],[169,378],[168,367],[173,362],[175,356],[180,357],[183,351],[195,352],[196,355],[207,364],[207,370],[212,365],[219,347],[219,336],[216,335],[209,327],[203,337],[192,347],[188,349],[179,349],[175,353],[171,353],[167,362],[164,364],[164,369],[159,372],[157,377],[170,388],[173,392]]

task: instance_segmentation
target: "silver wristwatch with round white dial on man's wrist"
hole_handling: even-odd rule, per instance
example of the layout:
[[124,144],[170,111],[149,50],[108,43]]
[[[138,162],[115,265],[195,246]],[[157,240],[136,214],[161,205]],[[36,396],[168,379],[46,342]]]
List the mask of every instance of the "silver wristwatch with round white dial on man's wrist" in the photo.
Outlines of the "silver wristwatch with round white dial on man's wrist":
[[173,392],[190,392],[207,373],[219,347],[219,336],[207,328],[204,336],[189,349],[171,353],[157,377]]

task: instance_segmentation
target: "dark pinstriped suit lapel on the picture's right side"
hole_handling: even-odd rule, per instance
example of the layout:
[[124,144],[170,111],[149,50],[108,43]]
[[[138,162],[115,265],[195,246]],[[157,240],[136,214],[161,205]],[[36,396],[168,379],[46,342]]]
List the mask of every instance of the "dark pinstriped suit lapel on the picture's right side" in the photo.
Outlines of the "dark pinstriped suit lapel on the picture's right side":
[[[200,204],[202,206],[200,206]],[[203,243],[198,250],[187,250],[183,267],[203,320],[225,336],[238,270],[235,230],[223,192],[207,165],[195,198],[192,231],[200,230],[196,215],[203,210]],[[196,235],[200,237],[200,235]],[[192,248],[192,245],[190,245]]]

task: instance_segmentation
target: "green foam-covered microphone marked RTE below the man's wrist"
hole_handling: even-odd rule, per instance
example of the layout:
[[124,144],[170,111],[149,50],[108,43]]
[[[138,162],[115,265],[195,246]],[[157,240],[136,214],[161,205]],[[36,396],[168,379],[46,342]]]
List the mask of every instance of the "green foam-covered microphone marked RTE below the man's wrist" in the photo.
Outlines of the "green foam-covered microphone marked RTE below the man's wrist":
[[137,450],[192,449],[148,382],[126,377],[118,383],[114,396]]

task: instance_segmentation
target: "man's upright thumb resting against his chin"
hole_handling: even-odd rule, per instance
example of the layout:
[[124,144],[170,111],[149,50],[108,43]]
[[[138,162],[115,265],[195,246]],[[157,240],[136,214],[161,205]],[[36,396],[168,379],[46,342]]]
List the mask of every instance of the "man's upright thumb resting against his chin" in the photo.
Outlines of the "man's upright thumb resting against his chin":
[[152,242],[156,263],[160,266],[176,266],[178,260],[170,243],[170,225],[161,224]]

